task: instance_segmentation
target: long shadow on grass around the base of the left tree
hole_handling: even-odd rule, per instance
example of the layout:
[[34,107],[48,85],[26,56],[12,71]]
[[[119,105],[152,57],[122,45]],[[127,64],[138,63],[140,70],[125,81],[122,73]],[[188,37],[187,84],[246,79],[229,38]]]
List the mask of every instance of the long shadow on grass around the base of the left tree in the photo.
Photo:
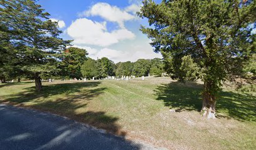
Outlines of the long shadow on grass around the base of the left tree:
[[[100,82],[90,82],[90,83],[63,83],[63,84],[51,84],[48,86],[43,86],[40,92],[35,91],[35,86],[24,88],[25,91],[17,93],[14,95],[3,96],[7,98],[6,101],[11,103],[19,104],[26,103],[29,101],[35,101],[37,98],[50,98],[51,96],[57,96],[60,94],[65,94],[68,99],[87,99],[90,100],[95,96],[102,94],[106,88],[97,88]],[[93,88],[84,89],[82,88]],[[80,93],[80,94],[75,94]]]

